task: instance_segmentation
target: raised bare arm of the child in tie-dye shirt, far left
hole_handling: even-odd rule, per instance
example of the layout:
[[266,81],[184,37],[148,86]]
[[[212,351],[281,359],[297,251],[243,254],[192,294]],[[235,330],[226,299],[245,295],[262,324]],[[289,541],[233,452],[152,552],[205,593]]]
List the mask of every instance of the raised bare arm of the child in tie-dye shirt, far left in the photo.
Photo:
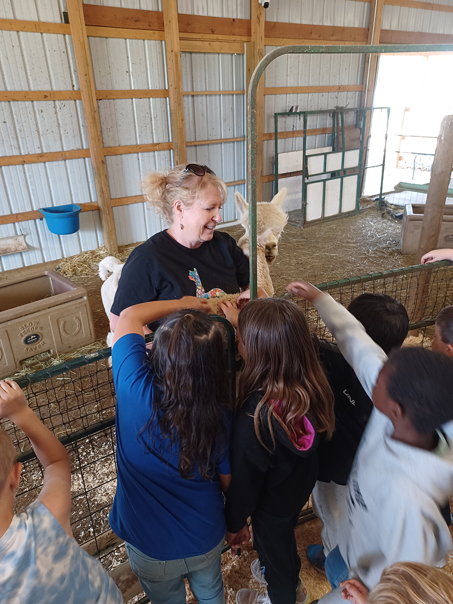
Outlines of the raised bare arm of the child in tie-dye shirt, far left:
[[71,466],[66,449],[36,417],[19,385],[11,380],[0,382],[0,417],[11,420],[30,439],[36,457],[44,467],[43,487],[38,500],[72,537],[69,522]]

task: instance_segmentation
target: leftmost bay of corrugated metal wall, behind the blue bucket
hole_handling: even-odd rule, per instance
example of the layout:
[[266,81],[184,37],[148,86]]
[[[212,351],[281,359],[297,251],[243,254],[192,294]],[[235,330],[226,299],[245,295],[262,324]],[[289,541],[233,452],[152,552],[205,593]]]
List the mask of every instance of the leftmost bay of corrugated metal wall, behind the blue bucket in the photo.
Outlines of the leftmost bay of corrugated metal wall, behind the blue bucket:
[[[4,2],[0,18],[61,22],[59,2]],[[3,90],[79,89],[70,36],[0,31]],[[0,103],[2,155],[88,147],[82,101]],[[96,201],[91,161],[71,159],[0,169],[0,213]],[[27,252],[0,257],[2,270],[94,249],[103,242],[98,212],[80,214],[80,231],[60,237],[42,220],[0,225],[0,237],[25,235]]]

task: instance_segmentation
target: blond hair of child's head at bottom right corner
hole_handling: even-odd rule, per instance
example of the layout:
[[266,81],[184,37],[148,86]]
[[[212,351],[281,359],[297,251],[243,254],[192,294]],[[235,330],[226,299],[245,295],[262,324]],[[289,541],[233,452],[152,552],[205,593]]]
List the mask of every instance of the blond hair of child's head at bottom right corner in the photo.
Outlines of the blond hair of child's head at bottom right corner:
[[367,604],[451,604],[453,579],[438,568],[397,562],[382,573]]

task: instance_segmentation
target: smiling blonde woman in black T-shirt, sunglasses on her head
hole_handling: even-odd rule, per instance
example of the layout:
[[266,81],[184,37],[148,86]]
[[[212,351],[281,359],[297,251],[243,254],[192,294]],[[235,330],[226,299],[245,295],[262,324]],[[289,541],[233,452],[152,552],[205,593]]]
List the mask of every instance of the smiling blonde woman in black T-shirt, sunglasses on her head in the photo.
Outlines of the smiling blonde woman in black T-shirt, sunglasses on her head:
[[[133,249],[111,308],[114,332],[121,310],[186,295],[209,298],[248,286],[248,259],[233,237],[214,230],[222,221],[226,185],[207,165],[177,165],[148,176],[144,197],[170,225]],[[155,331],[156,324],[150,325]]]

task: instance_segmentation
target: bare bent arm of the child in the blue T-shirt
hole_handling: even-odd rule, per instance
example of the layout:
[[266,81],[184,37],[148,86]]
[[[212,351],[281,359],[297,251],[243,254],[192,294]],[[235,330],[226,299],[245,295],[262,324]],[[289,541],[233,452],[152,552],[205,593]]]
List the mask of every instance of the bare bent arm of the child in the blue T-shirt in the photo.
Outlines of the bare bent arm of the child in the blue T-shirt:
[[194,296],[184,296],[179,300],[156,300],[129,306],[129,308],[121,310],[112,345],[127,333],[138,333],[138,335],[143,336],[144,325],[153,323],[153,321],[157,321],[182,308],[209,312],[208,301]]

